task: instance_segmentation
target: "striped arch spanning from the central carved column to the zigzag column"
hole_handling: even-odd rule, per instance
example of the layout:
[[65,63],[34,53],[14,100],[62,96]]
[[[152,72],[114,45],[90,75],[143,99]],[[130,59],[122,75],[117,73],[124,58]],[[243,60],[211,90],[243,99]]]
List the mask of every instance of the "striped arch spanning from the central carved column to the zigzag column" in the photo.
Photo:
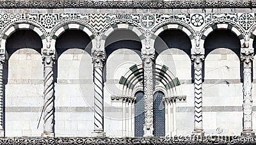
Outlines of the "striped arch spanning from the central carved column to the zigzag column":
[[164,25],[162,27],[160,27],[159,29],[156,30],[156,32],[154,34],[152,34],[151,38],[150,38],[150,46],[154,48],[154,44],[156,41],[156,38],[159,34],[163,33],[163,31],[165,31],[166,29],[177,29],[182,31],[183,33],[187,34],[188,37],[191,40],[191,49],[195,47],[195,37],[193,36],[193,33],[191,31],[189,31],[189,29],[185,26],[182,26],[180,24],[167,24]]

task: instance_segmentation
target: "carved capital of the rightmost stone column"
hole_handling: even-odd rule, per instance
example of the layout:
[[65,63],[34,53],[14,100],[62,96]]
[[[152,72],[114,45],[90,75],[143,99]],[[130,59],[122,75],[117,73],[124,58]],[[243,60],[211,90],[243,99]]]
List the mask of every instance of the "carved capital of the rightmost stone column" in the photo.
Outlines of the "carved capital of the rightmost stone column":
[[241,49],[241,61],[243,62],[244,68],[252,67],[253,48],[242,48]]

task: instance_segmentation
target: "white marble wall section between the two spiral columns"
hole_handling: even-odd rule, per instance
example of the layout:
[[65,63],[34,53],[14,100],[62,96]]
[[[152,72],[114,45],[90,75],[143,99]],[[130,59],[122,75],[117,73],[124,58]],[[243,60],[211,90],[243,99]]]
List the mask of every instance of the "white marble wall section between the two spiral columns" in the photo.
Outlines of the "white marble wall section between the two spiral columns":
[[56,136],[88,136],[93,131],[92,69],[90,54],[84,50],[68,49],[58,57]]

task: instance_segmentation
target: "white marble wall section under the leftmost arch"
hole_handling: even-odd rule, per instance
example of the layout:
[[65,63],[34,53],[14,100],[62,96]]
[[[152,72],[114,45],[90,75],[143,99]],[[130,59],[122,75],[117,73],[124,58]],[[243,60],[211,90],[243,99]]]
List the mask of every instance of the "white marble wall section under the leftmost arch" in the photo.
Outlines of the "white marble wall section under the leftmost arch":
[[6,70],[5,135],[40,136],[44,96],[41,55],[33,49],[19,49],[10,56]]

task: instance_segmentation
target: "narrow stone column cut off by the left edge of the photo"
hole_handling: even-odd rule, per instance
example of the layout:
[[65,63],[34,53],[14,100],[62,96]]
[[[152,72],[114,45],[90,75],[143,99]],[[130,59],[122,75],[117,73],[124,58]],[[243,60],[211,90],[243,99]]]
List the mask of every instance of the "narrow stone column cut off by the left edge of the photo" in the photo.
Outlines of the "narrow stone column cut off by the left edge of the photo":
[[0,137],[4,137],[3,128],[3,65],[5,56],[0,56]]

